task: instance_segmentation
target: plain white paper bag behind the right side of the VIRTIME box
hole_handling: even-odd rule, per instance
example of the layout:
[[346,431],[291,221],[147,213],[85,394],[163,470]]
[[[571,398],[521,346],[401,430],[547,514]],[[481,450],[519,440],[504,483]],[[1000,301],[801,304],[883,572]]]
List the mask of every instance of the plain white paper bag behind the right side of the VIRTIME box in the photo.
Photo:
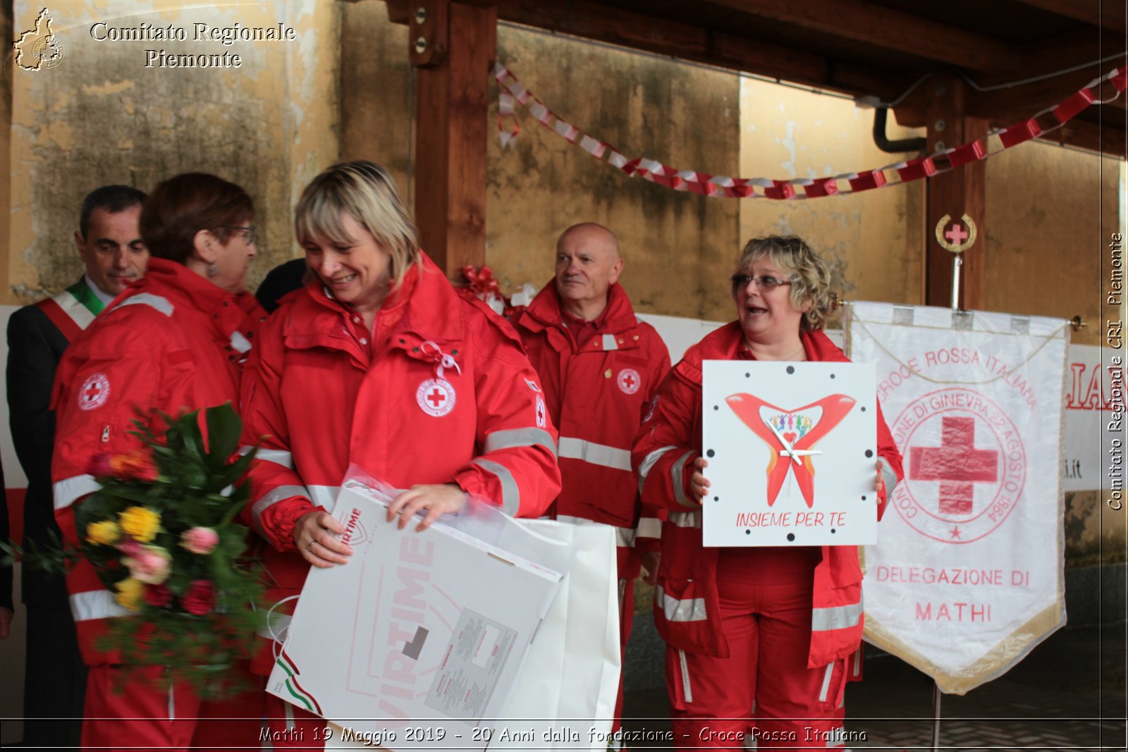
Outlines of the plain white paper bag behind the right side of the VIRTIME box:
[[615,531],[601,524],[522,522],[545,538],[571,543],[576,556],[529,646],[490,749],[602,752],[620,669]]

